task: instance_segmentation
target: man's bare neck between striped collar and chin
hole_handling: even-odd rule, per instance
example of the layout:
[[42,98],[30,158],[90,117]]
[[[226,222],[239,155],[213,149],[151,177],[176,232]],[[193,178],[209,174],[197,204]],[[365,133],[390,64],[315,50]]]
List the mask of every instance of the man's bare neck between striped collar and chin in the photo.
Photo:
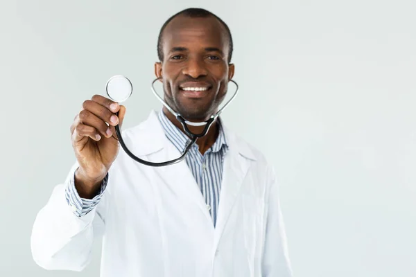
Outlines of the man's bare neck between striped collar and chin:
[[[168,109],[166,109],[166,107],[163,107],[162,111],[165,114],[165,116],[168,118],[168,120],[171,120],[173,125],[178,127],[184,134],[187,135],[187,133],[184,131],[184,127],[182,126],[182,124],[179,122],[179,120],[175,118],[173,114],[171,114],[170,111],[168,111]],[[191,131],[193,134],[200,134],[205,129],[205,125],[202,125],[202,126],[187,125],[187,127],[189,131]],[[214,122],[209,128],[207,134],[197,139],[196,144],[198,144],[198,148],[201,154],[204,154],[209,148],[211,148],[212,145],[214,145],[216,139],[218,138],[218,134],[219,134],[218,123]]]

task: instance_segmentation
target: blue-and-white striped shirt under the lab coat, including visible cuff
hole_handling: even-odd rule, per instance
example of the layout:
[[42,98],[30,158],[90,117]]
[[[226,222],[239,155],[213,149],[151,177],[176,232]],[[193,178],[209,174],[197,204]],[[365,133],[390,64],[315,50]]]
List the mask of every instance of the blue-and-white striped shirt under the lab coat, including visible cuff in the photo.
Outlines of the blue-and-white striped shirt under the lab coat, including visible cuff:
[[[190,139],[184,134],[184,132],[173,125],[173,123],[168,120],[162,111],[159,112],[159,120],[168,140],[171,141],[171,143],[175,145],[175,148],[182,153]],[[185,157],[189,170],[191,170],[192,175],[196,180],[196,184],[198,184],[202,196],[205,199],[205,203],[207,204],[207,208],[211,214],[214,226],[216,225],[216,216],[220,201],[221,181],[223,179],[223,162],[225,153],[228,150],[227,139],[221,125],[221,121],[217,121],[219,135],[214,145],[212,145],[211,148],[209,148],[209,150],[202,155],[199,152],[198,145],[195,143],[191,149],[189,149],[189,152]],[[73,213],[75,213],[78,217],[82,217],[92,211],[103,196],[107,186],[108,173],[103,180],[100,192],[93,199],[80,198],[76,192],[74,178],[75,174],[69,179],[65,190],[65,196],[67,203],[73,208]]]

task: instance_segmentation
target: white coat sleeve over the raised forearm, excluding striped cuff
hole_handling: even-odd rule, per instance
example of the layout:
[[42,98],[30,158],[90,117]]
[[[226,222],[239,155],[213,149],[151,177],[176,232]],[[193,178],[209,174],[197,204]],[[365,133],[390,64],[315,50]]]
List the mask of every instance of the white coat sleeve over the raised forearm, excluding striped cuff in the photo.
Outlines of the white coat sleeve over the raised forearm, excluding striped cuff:
[[37,265],[44,269],[82,270],[93,242],[94,216],[74,215],[65,201],[64,185],[56,186],[33,224],[31,249]]

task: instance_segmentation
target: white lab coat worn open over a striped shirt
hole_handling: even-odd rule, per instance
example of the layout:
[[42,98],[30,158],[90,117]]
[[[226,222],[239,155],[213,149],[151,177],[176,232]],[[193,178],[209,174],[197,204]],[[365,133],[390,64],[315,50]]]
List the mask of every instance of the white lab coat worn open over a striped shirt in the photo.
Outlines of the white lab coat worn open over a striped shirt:
[[[81,271],[94,238],[103,235],[101,277],[292,276],[274,171],[226,127],[225,134],[229,151],[216,228],[185,161],[154,168],[121,149],[101,202],[84,217],[67,204],[65,184],[55,186],[33,226],[35,262]],[[126,129],[123,139],[141,159],[167,161],[180,154],[155,111]]]

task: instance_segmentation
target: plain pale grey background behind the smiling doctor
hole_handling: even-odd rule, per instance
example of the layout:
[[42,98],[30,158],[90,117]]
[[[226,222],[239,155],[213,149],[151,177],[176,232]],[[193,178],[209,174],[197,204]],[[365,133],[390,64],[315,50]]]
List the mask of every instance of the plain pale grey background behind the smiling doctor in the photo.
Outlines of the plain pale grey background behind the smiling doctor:
[[31,258],[37,211],[74,156],[83,100],[128,76],[124,127],[150,92],[159,28],[207,8],[234,36],[227,125],[275,165],[295,276],[416,276],[414,1],[1,1],[0,276],[98,276]]

